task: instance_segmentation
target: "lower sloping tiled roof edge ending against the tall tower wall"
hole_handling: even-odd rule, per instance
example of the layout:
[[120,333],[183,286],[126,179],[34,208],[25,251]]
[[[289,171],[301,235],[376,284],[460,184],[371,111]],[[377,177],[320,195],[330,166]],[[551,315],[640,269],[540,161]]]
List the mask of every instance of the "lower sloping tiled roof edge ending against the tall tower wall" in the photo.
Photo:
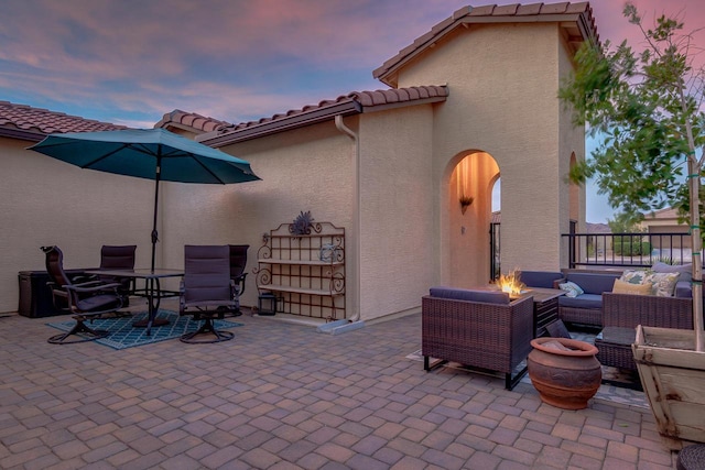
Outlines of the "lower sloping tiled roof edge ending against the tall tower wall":
[[445,86],[352,91],[334,100],[321,101],[318,105],[293,109],[259,121],[223,125],[214,132],[198,135],[196,140],[217,147],[332,120],[338,114],[350,116],[412,105],[440,102],[445,101],[447,96],[448,89]]

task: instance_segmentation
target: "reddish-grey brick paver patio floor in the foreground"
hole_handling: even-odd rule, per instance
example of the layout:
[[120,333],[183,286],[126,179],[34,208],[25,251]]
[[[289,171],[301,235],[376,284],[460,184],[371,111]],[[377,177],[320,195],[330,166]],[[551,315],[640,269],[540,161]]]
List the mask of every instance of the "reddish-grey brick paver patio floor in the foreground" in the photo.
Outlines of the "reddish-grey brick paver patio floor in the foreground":
[[2,469],[675,467],[648,409],[424,372],[417,314],[336,336],[245,315],[232,341],[122,351],[48,345],[63,318],[0,320]]

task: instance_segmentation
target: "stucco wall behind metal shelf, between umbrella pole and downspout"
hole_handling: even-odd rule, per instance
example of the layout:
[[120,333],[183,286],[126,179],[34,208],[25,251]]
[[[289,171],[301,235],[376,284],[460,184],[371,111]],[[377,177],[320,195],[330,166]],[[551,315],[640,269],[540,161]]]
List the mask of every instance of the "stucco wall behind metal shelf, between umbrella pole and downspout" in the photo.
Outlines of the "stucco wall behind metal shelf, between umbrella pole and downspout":
[[[348,125],[355,125],[355,122]],[[335,124],[316,125],[221,147],[226,153],[250,162],[260,182],[225,186],[213,193],[207,187],[169,188],[173,204],[166,209],[165,226],[178,232],[180,212],[193,215],[189,230],[170,238],[167,259],[183,259],[183,245],[207,233],[218,243],[249,244],[246,292],[241,304],[257,305],[252,269],[262,234],[292,222],[301,211],[311,210],[314,221],[328,221],[345,228],[346,310],[356,309],[354,285],[356,259],[354,242],[355,143]],[[173,226],[173,227],[172,227]],[[173,230],[172,230],[173,229]]]

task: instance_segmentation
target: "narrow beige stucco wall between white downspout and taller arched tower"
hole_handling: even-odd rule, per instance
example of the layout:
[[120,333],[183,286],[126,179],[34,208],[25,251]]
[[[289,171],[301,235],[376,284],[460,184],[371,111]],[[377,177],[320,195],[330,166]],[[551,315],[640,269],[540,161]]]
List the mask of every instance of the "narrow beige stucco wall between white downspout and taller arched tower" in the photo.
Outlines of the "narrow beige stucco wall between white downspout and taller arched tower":
[[435,283],[433,108],[360,119],[360,313],[369,320],[420,308]]

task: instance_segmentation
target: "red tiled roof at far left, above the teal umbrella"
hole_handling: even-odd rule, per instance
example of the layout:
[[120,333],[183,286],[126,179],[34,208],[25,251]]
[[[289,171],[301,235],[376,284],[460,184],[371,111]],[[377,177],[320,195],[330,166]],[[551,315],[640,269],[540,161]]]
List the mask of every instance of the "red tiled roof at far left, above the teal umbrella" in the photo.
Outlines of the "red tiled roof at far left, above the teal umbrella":
[[39,142],[57,132],[91,132],[127,129],[124,125],[99,122],[78,116],[0,101],[0,136]]

